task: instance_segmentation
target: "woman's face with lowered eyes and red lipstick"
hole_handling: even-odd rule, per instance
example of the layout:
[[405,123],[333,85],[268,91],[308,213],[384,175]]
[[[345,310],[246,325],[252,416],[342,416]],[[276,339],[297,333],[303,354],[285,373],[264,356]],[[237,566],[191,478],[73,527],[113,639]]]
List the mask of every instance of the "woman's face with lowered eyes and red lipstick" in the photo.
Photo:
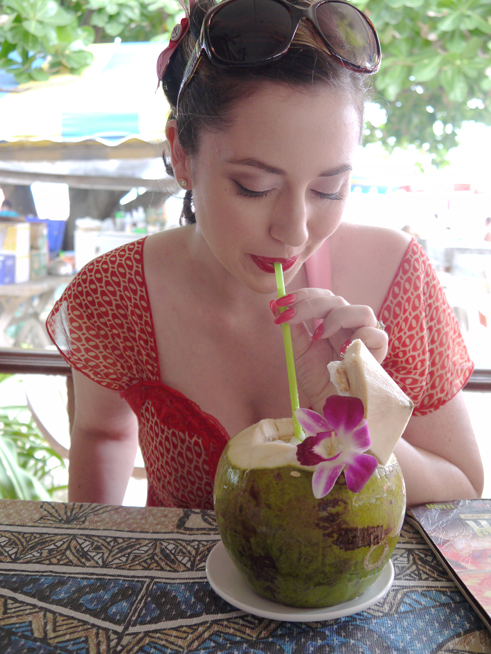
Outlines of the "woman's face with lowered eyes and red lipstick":
[[272,293],[281,259],[291,281],[340,223],[359,132],[359,114],[341,92],[266,82],[237,103],[225,131],[203,133],[187,167],[197,233],[213,264]]

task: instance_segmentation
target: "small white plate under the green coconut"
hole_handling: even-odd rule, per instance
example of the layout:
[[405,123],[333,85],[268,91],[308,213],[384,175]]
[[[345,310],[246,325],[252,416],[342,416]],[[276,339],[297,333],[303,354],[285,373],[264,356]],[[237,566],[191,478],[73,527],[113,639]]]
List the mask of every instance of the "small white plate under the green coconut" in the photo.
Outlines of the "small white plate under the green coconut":
[[316,620],[334,620],[345,615],[352,615],[358,613],[358,611],[364,611],[376,602],[380,602],[392,585],[394,567],[391,560],[389,560],[373,585],[354,600],[321,609],[299,609],[260,597],[249,588],[244,577],[228,556],[227,550],[221,541],[213,547],[208,555],[206,576],[215,593],[219,594],[228,604],[247,611],[247,613],[269,617],[273,620],[314,622]]

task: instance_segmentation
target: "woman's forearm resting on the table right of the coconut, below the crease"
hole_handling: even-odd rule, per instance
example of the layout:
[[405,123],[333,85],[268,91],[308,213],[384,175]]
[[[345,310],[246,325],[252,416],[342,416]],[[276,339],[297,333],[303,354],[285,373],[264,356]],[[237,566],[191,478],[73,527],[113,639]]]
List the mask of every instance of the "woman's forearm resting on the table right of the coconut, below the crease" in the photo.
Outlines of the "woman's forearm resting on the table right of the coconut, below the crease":
[[481,495],[460,468],[441,456],[410,445],[401,438],[394,455],[403,471],[407,506],[426,502],[470,499]]

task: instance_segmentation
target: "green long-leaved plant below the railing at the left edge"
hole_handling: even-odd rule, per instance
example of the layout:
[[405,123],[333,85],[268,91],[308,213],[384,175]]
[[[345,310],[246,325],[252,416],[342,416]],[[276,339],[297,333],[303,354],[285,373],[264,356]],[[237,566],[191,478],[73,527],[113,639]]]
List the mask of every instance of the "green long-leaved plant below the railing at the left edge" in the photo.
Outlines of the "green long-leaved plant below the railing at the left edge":
[[[1,382],[11,375],[0,375]],[[0,407],[0,498],[60,500],[64,460],[46,443],[26,406]]]

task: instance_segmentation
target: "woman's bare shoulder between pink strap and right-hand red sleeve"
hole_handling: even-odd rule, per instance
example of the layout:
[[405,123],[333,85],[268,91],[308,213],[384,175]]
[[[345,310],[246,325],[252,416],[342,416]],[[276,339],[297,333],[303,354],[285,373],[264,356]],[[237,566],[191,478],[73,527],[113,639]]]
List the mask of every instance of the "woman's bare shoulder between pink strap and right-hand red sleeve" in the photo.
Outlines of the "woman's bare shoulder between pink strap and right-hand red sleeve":
[[378,312],[410,240],[397,230],[341,223],[329,238],[333,290]]

